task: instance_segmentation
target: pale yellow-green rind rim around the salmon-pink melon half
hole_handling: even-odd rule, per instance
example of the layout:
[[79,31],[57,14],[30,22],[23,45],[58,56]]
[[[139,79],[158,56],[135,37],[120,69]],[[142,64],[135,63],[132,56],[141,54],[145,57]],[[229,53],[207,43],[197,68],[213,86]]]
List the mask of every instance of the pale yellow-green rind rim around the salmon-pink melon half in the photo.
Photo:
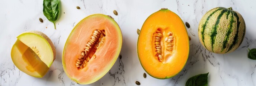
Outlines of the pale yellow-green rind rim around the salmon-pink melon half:
[[[121,47],[117,49],[117,54],[115,55],[115,57],[114,57],[115,59],[113,60],[113,62],[111,62],[112,64],[110,64],[109,67],[106,68],[106,69],[108,69],[108,70],[103,71],[103,73],[99,76],[99,78],[95,78],[94,81],[79,82],[79,80],[77,80],[76,78],[71,78],[71,76],[69,76],[69,75],[67,74],[67,70],[65,69],[65,68],[66,68],[66,65],[65,65],[65,58],[63,57],[63,56],[64,56],[65,49],[66,49],[66,44],[67,44],[67,42],[68,42],[68,38],[71,36],[71,33],[73,33],[73,31],[75,30],[75,29],[72,29],[72,31],[70,32],[70,35],[69,35],[68,38],[67,38],[67,41],[66,41],[66,43],[65,43],[65,46],[64,46],[64,48],[63,48],[63,52],[62,52],[62,65],[63,65],[63,69],[64,69],[66,75],[67,75],[72,81],[74,81],[74,82],[76,82],[76,83],[83,84],[83,85],[96,82],[96,81],[98,81],[101,77],[103,77],[103,76],[110,70],[110,68],[114,65],[115,61],[117,61],[117,58],[118,58],[118,56],[119,56],[119,54],[120,54],[120,51],[121,51],[121,48],[122,48],[122,41],[123,41],[122,38],[123,38],[123,36],[122,36],[121,29],[120,29],[119,25],[117,24],[117,22],[115,22],[114,18],[112,18],[110,15],[104,15],[104,14],[93,14],[93,15],[89,15],[89,16],[87,16],[86,18],[80,20],[80,22],[79,22],[77,25],[79,25],[79,24],[81,23],[81,21],[83,21],[83,20],[85,20],[85,19],[87,19],[87,18],[93,17],[93,16],[104,16],[105,18],[107,18],[107,19],[109,19],[110,21],[113,22],[113,25],[115,25],[115,27],[117,27],[116,29],[118,30],[118,32],[120,32],[120,33],[118,33],[118,34],[120,35],[120,39],[121,39],[121,42],[120,42],[120,45],[119,45],[119,46],[121,46]],[[74,28],[76,28],[77,25],[76,25]]]

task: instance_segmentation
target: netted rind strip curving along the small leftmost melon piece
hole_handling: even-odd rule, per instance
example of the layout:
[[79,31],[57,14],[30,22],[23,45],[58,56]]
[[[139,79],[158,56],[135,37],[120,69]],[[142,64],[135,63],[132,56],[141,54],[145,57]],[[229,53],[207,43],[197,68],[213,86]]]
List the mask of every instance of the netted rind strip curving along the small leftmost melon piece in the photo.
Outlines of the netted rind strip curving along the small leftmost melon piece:
[[[36,31],[36,30],[33,30],[33,31],[24,32],[24,33],[20,34],[17,38],[19,39],[19,37],[26,35],[26,34],[34,34],[34,35],[37,35],[38,37],[42,37],[43,40],[45,40],[45,42],[48,44],[48,46],[51,46],[51,50],[53,52],[53,61],[54,61],[54,59],[56,58],[56,50],[55,50],[54,44],[52,43],[52,40],[46,34]],[[50,67],[52,65],[53,61],[50,64],[46,64],[46,65],[48,67]]]

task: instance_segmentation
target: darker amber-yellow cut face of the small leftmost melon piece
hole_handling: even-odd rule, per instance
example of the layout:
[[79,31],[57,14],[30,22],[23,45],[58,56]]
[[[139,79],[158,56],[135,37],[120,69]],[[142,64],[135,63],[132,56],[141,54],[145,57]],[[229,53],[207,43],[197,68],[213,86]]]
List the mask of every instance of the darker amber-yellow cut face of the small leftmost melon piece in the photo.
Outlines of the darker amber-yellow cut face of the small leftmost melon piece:
[[11,49],[11,58],[20,71],[30,76],[40,78],[49,70],[47,65],[41,61],[37,54],[19,39]]

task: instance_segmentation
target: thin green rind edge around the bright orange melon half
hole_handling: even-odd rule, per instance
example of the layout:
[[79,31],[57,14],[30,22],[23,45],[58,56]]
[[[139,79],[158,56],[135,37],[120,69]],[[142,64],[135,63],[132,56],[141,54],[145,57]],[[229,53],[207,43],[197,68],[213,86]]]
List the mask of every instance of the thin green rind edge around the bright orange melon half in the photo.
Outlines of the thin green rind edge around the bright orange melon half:
[[[161,10],[159,10],[159,11],[171,11],[171,10],[169,10],[169,9],[167,9],[167,8],[162,8]],[[158,12],[158,11],[157,11]],[[155,13],[157,13],[157,12],[155,12]],[[155,14],[155,13],[153,13],[153,14]],[[151,15],[153,15],[153,14],[151,14]],[[151,16],[150,15],[150,16]],[[177,14],[176,14],[177,15]],[[150,16],[148,16],[148,18],[150,18]],[[178,16],[178,15],[177,15]],[[147,19],[148,19],[147,18]],[[179,16],[179,18],[180,18],[180,16]],[[147,19],[145,20],[145,21],[147,21]],[[180,18],[180,20],[181,20],[181,18]],[[182,21],[182,20],[181,20]],[[145,22],[144,22],[145,23]],[[143,25],[144,25],[144,23],[143,23]],[[184,25],[184,24],[183,24]],[[143,27],[143,26],[142,26]],[[185,25],[184,25],[184,27],[185,27]],[[142,29],[141,29],[142,30]],[[187,30],[186,30],[186,33],[188,33],[187,32]],[[139,36],[140,36],[140,34],[139,34]],[[188,36],[188,34],[186,35],[186,36]],[[189,38],[188,38],[188,40],[189,40]],[[138,55],[138,58],[139,58],[139,52],[138,52],[138,42],[139,42],[139,37],[138,37],[138,41],[137,41],[137,55]],[[189,41],[188,41],[189,42]],[[188,49],[189,49],[189,47],[188,47]],[[189,55],[189,52],[188,52],[188,55]],[[189,57],[189,56],[188,56]],[[139,58],[139,61],[141,61],[142,59],[140,59]],[[186,59],[186,62],[188,61],[188,58]],[[186,63],[185,62],[185,63]],[[141,62],[140,62],[141,63]],[[185,67],[185,65],[186,64],[184,64],[184,66],[182,67],[182,69]],[[142,66],[142,64],[141,64],[141,66]],[[142,66],[142,68],[148,73],[148,71]],[[181,70],[182,70],[181,69]],[[180,71],[181,71],[180,70]],[[179,71],[179,72],[180,72]],[[179,74],[179,72],[177,73],[177,74]],[[174,76],[176,76],[177,74],[175,74]],[[152,76],[152,77],[154,77],[154,78],[157,78],[157,79],[161,79],[161,80],[163,80],[163,79],[168,79],[168,78],[171,78],[171,77],[174,77],[174,76],[166,76],[165,78],[161,78],[161,77],[157,77],[157,76],[153,76],[153,75],[151,75],[150,73],[148,73],[148,75],[150,75],[150,76]]]

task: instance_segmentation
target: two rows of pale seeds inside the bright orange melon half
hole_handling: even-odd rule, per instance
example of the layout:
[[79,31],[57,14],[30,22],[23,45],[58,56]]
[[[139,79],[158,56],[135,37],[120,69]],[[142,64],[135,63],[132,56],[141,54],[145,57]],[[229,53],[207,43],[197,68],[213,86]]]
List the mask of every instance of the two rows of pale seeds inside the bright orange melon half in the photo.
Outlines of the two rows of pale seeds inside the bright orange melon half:
[[[173,49],[173,44],[174,44],[174,37],[172,32],[168,32],[167,37],[165,38],[166,42],[166,50],[167,51],[172,51]],[[156,30],[155,32],[155,37],[154,37],[154,42],[155,42],[155,49],[156,49],[156,57],[158,61],[163,62],[163,56],[162,56],[162,50],[161,50],[161,38],[163,37],[163,34],[160,30]]]

